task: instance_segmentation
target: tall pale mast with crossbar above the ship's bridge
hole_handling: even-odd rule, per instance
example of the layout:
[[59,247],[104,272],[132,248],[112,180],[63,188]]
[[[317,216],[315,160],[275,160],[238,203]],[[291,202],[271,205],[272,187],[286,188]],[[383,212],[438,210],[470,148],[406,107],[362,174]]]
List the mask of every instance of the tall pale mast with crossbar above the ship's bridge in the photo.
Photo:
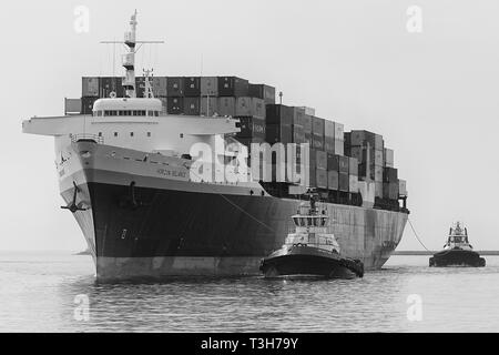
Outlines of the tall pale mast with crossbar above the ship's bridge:
[[124,33],[124,42],[116,41],[103,41],[101,43],[120,43],[125,44],[128,47],[128,53],[123,54],[123,67],[126,70],[125,78],[123,79],[122,85],[125,90],[126,98],[136,98],[135,90],[135,53],[139,51],[136,44],[145,44],[145,43],[164,43],[164,41],[138,41],[136,40],[136,10],[130,18],[130,31]]

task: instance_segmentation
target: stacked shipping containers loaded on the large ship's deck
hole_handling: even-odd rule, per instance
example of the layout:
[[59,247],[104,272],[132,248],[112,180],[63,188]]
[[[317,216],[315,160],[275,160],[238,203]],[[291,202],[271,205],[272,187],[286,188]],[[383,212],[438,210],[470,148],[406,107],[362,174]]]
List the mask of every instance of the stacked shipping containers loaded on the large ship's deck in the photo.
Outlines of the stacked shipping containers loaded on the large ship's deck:
[[[99,98],[124,97],[121,82],[113,77],[82,78],[81,112],[91,114]],[[144,83],[144,78],[136,78],[138,98],[145,95]],[[377,199],[397,201],[407,195],[406,182],[394,166],[394,151],[384,146],[381,135],[344,132],[342,123],[316,116],[314,109],[276,104],[273,87],[237,77],[153,77],[151,87],[164,114],[238,119],[241,132],[235,138],[243,144],[308,143],[309,185],[335,202],[360,203],[363,183],[374,186]]]

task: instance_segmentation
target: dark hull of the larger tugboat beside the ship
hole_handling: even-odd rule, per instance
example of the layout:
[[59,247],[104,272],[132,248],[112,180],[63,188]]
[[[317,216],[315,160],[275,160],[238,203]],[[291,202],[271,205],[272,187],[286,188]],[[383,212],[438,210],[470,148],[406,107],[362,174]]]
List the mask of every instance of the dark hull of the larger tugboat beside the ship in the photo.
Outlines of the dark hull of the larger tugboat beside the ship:
[[267,278],[286,276],[355,278],[364,276],[364,265],[360,261],[308,246],[279,250],[264,258],[259,268]]

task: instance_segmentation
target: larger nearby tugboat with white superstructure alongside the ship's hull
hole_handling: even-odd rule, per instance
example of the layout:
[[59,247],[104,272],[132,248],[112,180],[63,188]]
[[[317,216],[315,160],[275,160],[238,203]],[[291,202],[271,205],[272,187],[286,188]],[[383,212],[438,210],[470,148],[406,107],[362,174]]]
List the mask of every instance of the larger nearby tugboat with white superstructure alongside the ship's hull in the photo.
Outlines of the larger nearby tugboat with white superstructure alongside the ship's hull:
[[295,232],[284,245],[261,262],[259,270],[269,277],[355,278],[364,276],[359,260],[342,256],[334,234],[327,233],[329,217],[317,210],[310,194],[309,204],[303,202],[292,216]]

